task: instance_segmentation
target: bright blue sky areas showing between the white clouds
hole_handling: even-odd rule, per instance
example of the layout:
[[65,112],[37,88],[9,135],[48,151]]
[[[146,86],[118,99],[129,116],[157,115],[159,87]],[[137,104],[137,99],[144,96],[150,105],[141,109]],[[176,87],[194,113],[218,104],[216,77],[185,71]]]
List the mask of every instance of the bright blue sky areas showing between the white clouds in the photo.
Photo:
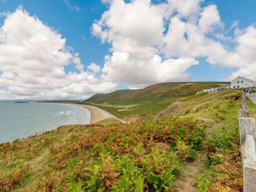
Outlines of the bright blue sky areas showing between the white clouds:
[[[116,0],[116,3],[120,0]],[[138,1],[138,0],[137,0]],[[143,1],[143,0],[141,0]],[[174,1],[174,0],[173,0]],[[238,40],[240,36],[244,35],[245,37],[251,35],[246,35],[246,29],[249,26],[254,26],[255,21],[256,21],[256,1],[250,1],[250,0],[236,0],[236,1],[201,1],[200,0],[193,0],[198,3],[198,20],[195,21],[196,23],[199,23],[199,19],[201,17],[201,13],[204,10],[204,8],[207,8],[209,5],[216,5],[216,10],[218,11],[220,20],[216,20],[212,23],[212,26],[217,26],[213,30],[209,30],[209,33],[205,33],[205,38],[211,38],[212,40],[216,42],[220,42],[222,47],[225,48],[227,52],[230,52],[233,54],[233,52],[236,51],[237,47],[241,42]],[[143,77],[143,74],[138,75],[138,81],[135,79],[137,76],[131,76],[129,77],[129,73],[134,73],[134,71],[137,73],[140,73],[140,69],[138,70],[128,70],[128,77],[118,77],[113,74],[113,70],[111,67],[116,68],[117,66],[114,66],[113,62],[114,60],[114,53],[115,52],[120,52],[122,50],[123,52],[126,52],[124,50],[125,48],[123,47],[115,47],[115,43],[118,44],[118,41],[115,39],[115,37],[111,37],[111,33],[118,33],[120,27],[118,24],[116,24],[117,28],[115,29],[116,26],[114,26],[115,23],[112,23],[113,26],[110,24],[104,26],[101,23],[99,23],[99,20],[102,20],[102,22],[108,23],[109,21],[111,22],[111,19],[109,20],[104,20],[102,19],[102,14],[104,12],[108,12],[110,8],[112,12],[115,12],[114,10],[114,2],[109,2],[109,3],[104,3],[102,1],[74,1],[74,0],[55,0],[55,1],[49,1],[49,0],[37,0],[37,1],[24,1],[24,0],[0,0],[0,26],[3,26],[3,22],[6,19],[6,16],[3,16],[3,13],[9,12],[10,14],[14,13],[16,9],[19,6],[22,6],[22,9],[29,13],[29,16],[36,16],[39,20],[42,21],[42,23],[45,26],[51,27],[54,30],[57,30],[59,34],[62,35],[62,38],[66,39],[65,47],[71,47],[72,50],[70,51],[71,54],[75,55],[76,53],[79,54],[79,56],[74,56],[78,57],[84,66],[84,70],[87,71],[87,66],[89,66],[91,63],[95,63],[98,66],[101,67],[101,69],[105,69],[102,72],[96,72],[93,74],[95,78],[99,79],[104,79],[104,82],[111,82],[115,84],[115,86],[112,86],[112,90],[116,90],[119,88],[138,88],[138,87],[144,87],[149,84],[154,84],[158,83],[161,81],[182,81],[182,80],[194,80],[194,81],[223,81],[230,79],[234,77],[236,74],[244,74],[247,75],[247,77],[252,78],[252,74],[248,73],[250,69],[243,68],[242,66],[245,66],[246,64],[243,65],[231,65],[229,61],[221,62],[221,59],[215,59],[216,61],[209,61],[208,58],[211,58],[211,56],[207,54],[198,54],[198,55],[193,55],[192,58],[195,59],[198,63],[195,61],[190,61],[190,64],[180,73],[180,76],[184,76],[184,79],[181,77],[173,77],[173,78],[161,78],[159,77],[158,79],[155,80],[148,80],[146,77]],[[136,2],[136,1],[134,1]],[[188,1],[187,1],[188,2]],[[124,5],[128,5],[130,1],[125,1]],[[159,5],[161,3],[165,3],[165,1],[159,1],[155,0],[152,1],[153,5]],[[184,3],[186,3],[186,0],[184,0]],[[135,3],[134,7],[135,7]],[[185,4],[184,4],[185,5]],[[171,6],[171,5],[170,5]],[[192,6],[192,5],[191,5]],[[128,8],[128,6],[126,6]],[[212,7],[213,8],[213,7]],[[125,9],[125,8],[124,8]],[[180,9],[180,10],[179,10]],[[213,8],[212,10],[214,10]],[[109,11],[109,15],[111,15],[111,11]],[[135,11],[135,10],[134,10]],[[177,13],[173,13],[172,17],[175,17],[175,15],[181,15],[180,16],[180,21],[188,23],[187,20],[189,20],[190,16],[182,16],[184,13],[179,13],[182,12],[182,8],[177,8]],[[117,11],[116,11],[117,12]],[[199,13],[200,12],[200,13]],[[192,13],[191,13],[192,14]],[[194,13],[193,13],[194,14]],[[218,15],[217,14],[217,15]],[[114,17],[113,15],[111,15]],[[218,17],[218,16],[217,16]],[[165,18],[165,28],[169,29],[168,27],[168,22],[169,20]],[[113,21],[113,20],[112,20]],[[116,20],[115,20],[116,21]],[[93,24],[97,23],[99,27],[101,27],[101,32],[97,34],[95,30],[93,30]],[[232,25],[235,26],[232,27]],[[123,23],[125,25],[125,23]],[[119,28],[118,28],[119,27]],[[232,28],[231,28],[232,27]],[[115,31],[111,31],[115,29]],[[150,29],[149,29],[150,30]],[[154,30],[154,29],[152,29]],[[103,32],[106,31],[108,33],[108,37],[106,39],[102,38]],[[236,31],[236,33],[234,33]],[[238,31],[238,32],[237,32]],[[240,32],[239,32],[240,31]],[[168,30],[166,30],[163,35],[166,35],[168,33]],[[223,36],[228,37],[230,40],[220,40],[216,38],[216,34],[221,33]],[[125,38],[126,34],[123,36],[120,35],[120,38]],[[133,37],[129,37],[131,39]],[[0,39],[1,40],[1,39]],[[137,40],[137,38],[136,38]],[[165,41],[165,40],[163,40]],[[135,42],[135,41],[134,41]],[[137,42],[136,42],[137,43]],[[144,42],[143,42],[144,43]],[[155,43],[155,42],[154,42]],[[165,42],[166,45],[168,43],[171,44],[171,42]],[[173,42],[172,42],[173,43]],[[151,48],[156,47],[156,45],[149,45]],[[161,47],[160,45],[157,45],[157,47]],[[174,46],[174,45],[173,45]],[[184,58],[188,55],[188,53],[184,53],[184,50],[176,50],[173,48],[173,52],[177,52],[177,55],[173,55],[173,52],[168,52],[162,50],[162,48],[158,47],[158,51],[154,52],[154,54],[158,54],[162,58],[162,62],[165,61],[166,59],[177,59],[177,58]],[[167,46],[168,47],[168,46]],[[145,47],[146,48],[146,47]],[[129,48],[127,48],[129,49]],[[171,48],[172,49],[172,48]],[[159,51],[160,50],[160,51]],[[249,50],[251,51],[251,50]],[[193,52],[193,49],[191,49],[191,52]],[[130,54],[130,52],[129,52]],[[104,58],[106,55],[109,55],[112,58],[109,59],[109,63],[106,64],[106,61],[104,61]],[[130,54],[132,55],[132,54]],[[1,56],[1,55],[0,55]],[[125,55],[123,55],[125,56]],[[134,56],[136,58],[137,56]],[[239,55],[241,58],[242,56]],[[189,55],[189,58],[191,58],[191,55]],[[228,56],[227,56],[228,58]],[[120,59],[120,55],[119,55]],[[72,59],[71,59],[72,60]],[[225,59],[224,59],[225,60]],[[73,60],[72,60],[73,61]],[[236,61],[236,60],[232,60]],[[240,61],[240,60],[237,60]],[[0,61],[1,62],[1,61]],[[129,62],[134,62],[140,64],[137,60],[129,60]],[[128,62],[128,63],[129,63]],[[147,62],[147,60],[144,60],[144,62]],[[1,65],[1,63],[0,63]],[[129,64],[123,64],[123,66],[127,66]],[[136,65],[136,64],[135,64]],[[108,69],[106,69],[108,66]],[[76,67],[76,64],[73,65],[65,65],[65,73],[69,72],[76,72],[80,73],[78,68]],[[111,68],[111,69],[109,69]],[[113,68],[113,69],[114,69]],[[121,72],[124,69],[121,69]],[[239,72],[237,72],[239,70]],[[0,69],[0,72],[3,73],[4,70]],[[9,72],[9,71],[8,71]],[[18,72],[13,71],[13,74],[17,74]],[[248,74],[247,74],[248,73]],[[89,74],[89,73],[88,73]],[[88,75],[87,74],[87,75]],[[105,76],[103,77],[102,76]],[[150,72],[149,72],[150,74]],[[159,76],[161,76],[161,73],[159,72]],[[162,76],[166,76],[166,74],[163,74]],[[141,77],[141,79],[139,79]],[[134,79],[134,80],[129,80]],[[90,78],[89,78],[90,79]],[[102,84],[102,82],[101,82]],[[23,86],[24,87],[24,86]],[[110,88],[110,89],[111,89]],[[0,87],[0,90],[10,90],[9,87]],[[48,91],[54,90],[54,87],[48,87]],[[97,91],[100,91],[97,90]],[[86,93],[86,95],[91,95],[94,93],[97,93],[97,91],[91,91],[91,93]],[[109,90],[105,90],[105,92],[108,92]],[[25,91],[26,92],[26,91]],[[33,91],[32,91],[33,92]],[[102,92],[104,92],[102,90]],[[75,93],[75,95],[83,95],[81,91]],[[26,95],[26,94],[24,94]],[[73,95],[74,96],[74,95]],[[72,96],[72,97],[73,97]],[[69,97],[69,96],[68,96]]]

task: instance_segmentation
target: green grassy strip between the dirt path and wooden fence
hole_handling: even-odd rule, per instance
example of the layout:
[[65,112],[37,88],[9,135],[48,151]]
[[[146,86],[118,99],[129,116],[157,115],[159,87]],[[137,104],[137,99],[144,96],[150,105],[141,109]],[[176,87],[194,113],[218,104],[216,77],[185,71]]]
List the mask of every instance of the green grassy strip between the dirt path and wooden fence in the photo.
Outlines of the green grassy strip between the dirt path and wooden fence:
[[[222,123],[222,126],[211,130],[211,136],[205,141],[208,148],[206,167],[197,179],[195,191],[243,190],[237,119],[240,96],[240,90],[230,90],[198,94],[178,101],[179,115],[207,118],[215,123]],[[168,112],[170,111],[167,109],[165,114]]]

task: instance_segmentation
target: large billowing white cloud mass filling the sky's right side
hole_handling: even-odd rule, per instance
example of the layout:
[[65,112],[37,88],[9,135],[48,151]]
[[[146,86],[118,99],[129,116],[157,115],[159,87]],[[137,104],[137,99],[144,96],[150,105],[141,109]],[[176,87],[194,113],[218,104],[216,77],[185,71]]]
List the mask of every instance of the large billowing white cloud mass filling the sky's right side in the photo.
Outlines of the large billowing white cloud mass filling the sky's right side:
[[[234,21],[226,36],[216,5],[202,6],[202,0],[111,0],[92,33],[102,43],[111,44],[111,55],[105,56],[102,78],[127,83],[132,88],[164,81],[192,80],[187,73],[198,58],[211,65],[236,67],[232,74],[246,74],[254,68],[255,29],[237,30]],[[225,42],[234,42],[230,48]],[[250,75],[249,73],[247,73]],[[246,76],[246,75],[245,75]],[[254,75],[254,79],[256,74]]]

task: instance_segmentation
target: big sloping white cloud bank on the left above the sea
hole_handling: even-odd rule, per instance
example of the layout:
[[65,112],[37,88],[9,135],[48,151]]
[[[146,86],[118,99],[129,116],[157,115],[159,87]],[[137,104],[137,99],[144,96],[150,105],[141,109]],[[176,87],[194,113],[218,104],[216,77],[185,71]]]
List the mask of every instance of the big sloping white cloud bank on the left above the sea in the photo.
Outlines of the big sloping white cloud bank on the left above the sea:
[[[84,71],[66,39],[18,8],[0,27],[0,99],[85,98],[116,87]],[[66,67],[79,72],[66,73]],[[97,69],[95,69],[97,70]]]

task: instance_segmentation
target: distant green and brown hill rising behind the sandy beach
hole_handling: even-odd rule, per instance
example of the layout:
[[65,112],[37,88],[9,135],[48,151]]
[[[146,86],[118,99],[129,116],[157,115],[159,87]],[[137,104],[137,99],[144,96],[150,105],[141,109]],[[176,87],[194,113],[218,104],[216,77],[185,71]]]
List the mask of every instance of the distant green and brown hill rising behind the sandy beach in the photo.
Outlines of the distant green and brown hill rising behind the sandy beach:
[[109,94],[96,94],[83,104],[95,105],[118,118],[152,116],[177,99],[194,95],[205,88],[227,86],[225,82],[159,83],[140,90],[118,90]]

